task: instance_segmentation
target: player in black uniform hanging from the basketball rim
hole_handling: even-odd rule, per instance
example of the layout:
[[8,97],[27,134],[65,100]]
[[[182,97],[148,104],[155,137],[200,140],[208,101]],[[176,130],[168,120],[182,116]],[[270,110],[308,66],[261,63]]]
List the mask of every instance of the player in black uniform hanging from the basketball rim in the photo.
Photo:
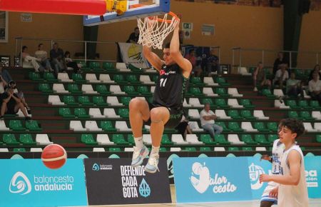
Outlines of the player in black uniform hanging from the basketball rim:
[[183,116],[183,100],[188,88],[188,79],[192,65],[180,53],[179,24],[173,32],[170,44],[163,49],[163,61],[143,46],[143,55],[159,72],[153,103],[141,99],[132,99],[129,104],[129,120],[135,139],[131,166],[139,166],[148,156],[148,148],[143,144],[143,124],[151,126],[152,149],[145,171],[156,173],[158,170],[159,148],[164,128],[175,128]]

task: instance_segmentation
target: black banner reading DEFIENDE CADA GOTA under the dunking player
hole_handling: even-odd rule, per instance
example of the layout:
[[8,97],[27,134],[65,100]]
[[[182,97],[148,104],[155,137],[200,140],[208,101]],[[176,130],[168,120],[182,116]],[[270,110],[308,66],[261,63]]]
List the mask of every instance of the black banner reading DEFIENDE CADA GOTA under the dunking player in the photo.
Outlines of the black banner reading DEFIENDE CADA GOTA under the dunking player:
[[159,171],[146,173],[143,165],[131,167],[130,158],[84,159],[89,205],[171,203],[166,160]]

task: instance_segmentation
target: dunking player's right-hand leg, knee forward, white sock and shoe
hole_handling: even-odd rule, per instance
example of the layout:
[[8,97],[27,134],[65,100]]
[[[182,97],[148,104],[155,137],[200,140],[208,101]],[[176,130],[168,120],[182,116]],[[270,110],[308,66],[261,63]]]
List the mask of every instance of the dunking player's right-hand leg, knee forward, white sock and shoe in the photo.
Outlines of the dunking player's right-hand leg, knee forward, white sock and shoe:
[[170,113],[165,107],[157,107],[151,110],[151,138],[153,148],[145,167],[145,171],[148,173],[156,173],[158,170],[161,138],[163,136],[165,123],[168,122],[169,118]]

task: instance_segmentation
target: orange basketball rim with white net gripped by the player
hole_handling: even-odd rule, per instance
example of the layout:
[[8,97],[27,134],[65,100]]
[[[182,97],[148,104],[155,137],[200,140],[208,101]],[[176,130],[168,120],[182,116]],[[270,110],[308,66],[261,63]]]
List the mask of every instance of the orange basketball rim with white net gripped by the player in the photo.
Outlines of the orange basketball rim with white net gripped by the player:
[[158,16],[149,16],[144,19],[137,19],[139,28],[138,44],[162,49],[163,41],[175,29],[180,19],[173,12],[164,15],[163,19]]

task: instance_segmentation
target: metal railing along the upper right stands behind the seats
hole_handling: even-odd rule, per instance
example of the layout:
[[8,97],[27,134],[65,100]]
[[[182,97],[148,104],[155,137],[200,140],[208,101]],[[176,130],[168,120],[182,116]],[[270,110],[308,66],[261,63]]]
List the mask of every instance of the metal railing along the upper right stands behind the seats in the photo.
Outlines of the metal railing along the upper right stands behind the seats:
[[[232,48],[232,65],[233,67],[242,67],[242,66],[248,66],[248,64],[243,64],[243,62],[248,58],[248,56],[245,56],[244,53],[248,52],[250,54],[254,54],[254,53],[260,53],[260,59],[257,60],[258,61],[262,61],[263,66],[272,66],[272,64],[267,63],[266,60],[266,56],[268,53],[272,53],[272,54],[277,54],[282,52],[283,54],[288,54],[289,57],[289,68],[292,69],[294,67],[292,67],[292,59],[293,56],[297,56],[298,59],[298,55],[310,55],[310,56],[315,56],[315,63],[313,65],[319,64],[319,62],[321,61],[321,51],[284,51],[284,50],[270,50],[270,49],[245,49],[245,48],[241,48],[241,47],[234,47]],[[238,55],[238,58],[235,57]],[[275,59],[277,58],[277,56],[275,56]],[[270,65],[269,65],[270,64]],[[297,66],[295,66],[295,68],[297,68]],[[302,67],[302,69],[305,68],[311,68],[311,66],[308,67]]]

